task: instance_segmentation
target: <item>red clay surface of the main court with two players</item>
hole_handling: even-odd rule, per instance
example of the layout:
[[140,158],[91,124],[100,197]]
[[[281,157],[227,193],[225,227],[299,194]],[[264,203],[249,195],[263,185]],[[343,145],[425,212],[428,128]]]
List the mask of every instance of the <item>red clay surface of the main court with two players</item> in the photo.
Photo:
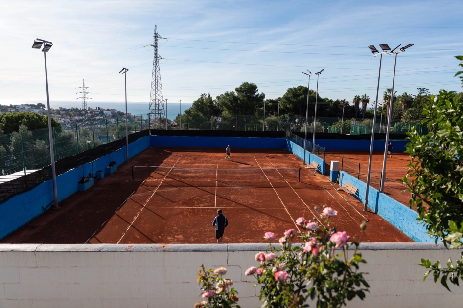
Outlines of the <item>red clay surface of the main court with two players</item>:
[[[61,209],[49,210],[0,242],[214,243],[211,221],[218,208],[230,223],[225,243],[265,242],[264,232],[282,236],[285,229],[297,229],[298,217],[312,219],[314,207],[324,204],[338,211],[332,224],[351,236],[360,235],[364,215],[369,222],[363,241],[413,242],[378,215],[363,212],[363,204],[353,197],[338,193],[328,176],[312,176],[313,169],[303,168],[286,150],[232,149],[231,161],[223,152],[149,148],[86,192],[64,200]],[[327,163],[328,155],[336,154],[327,154]],[[133,180],[131,165],[168,168],[136,168]],[[212,170],[179,172],[172,167]],[[283,167],[302,167],[301,181],[296,171],[279,169]],[[247,168],[259,169],[246,173]]]

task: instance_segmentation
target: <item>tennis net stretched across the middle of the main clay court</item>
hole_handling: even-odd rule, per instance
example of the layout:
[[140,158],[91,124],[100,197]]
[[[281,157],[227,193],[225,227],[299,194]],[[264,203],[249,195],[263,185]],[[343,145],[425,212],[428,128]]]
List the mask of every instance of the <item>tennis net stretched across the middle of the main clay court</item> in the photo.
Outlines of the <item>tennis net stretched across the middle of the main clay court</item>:
[[299,181],[301,168],[184,168],[132,166],[132,179],[220,182]]

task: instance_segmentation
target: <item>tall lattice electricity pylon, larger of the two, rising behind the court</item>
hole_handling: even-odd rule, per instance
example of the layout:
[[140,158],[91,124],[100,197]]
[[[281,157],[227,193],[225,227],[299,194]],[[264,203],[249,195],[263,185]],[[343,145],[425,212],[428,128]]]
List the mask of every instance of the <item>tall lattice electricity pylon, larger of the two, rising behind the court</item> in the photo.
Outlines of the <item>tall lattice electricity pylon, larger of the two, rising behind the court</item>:
[[[153,44],[154,59],[153,59],[153,75],[151,76],[151,95],[149,100],[149,119],[153,119],[156,126],[161,126],[161,120],[166,118],[164,115],[164,101],[162,97],[161,70],[159,67],[159,59],[162,59],[158,53],[158,41],[162,37],[158,34],[156,25],[154,26]],[[151,122],[150,122],[151,123]]]

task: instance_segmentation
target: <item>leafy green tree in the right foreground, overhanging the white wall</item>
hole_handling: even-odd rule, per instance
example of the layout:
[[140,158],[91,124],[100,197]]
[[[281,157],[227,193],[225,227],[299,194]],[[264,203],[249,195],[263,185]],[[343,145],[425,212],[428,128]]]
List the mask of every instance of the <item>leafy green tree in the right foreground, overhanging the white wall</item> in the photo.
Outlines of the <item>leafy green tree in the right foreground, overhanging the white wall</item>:
[[[414,128],[407,133],[410,143],[406,152],[412,161],[403,181],[412,193],[410,206],[417,206],[417,220],[424,223],[435,242],[441,239],[446,247],[462,248],[463,105],[455,92],[440,90],[439,95],[431,95],[422,114],[430,132],[420,135]],[[437,282],[442,275],[440,283],[449,291],[447,279],[457,286],[463,279],[463,252],[456,264],[449,259],[446,268],[441,267],[440,260],[432,264],[421,259],[419,265],[428,269],[424,279],[433,273]]]

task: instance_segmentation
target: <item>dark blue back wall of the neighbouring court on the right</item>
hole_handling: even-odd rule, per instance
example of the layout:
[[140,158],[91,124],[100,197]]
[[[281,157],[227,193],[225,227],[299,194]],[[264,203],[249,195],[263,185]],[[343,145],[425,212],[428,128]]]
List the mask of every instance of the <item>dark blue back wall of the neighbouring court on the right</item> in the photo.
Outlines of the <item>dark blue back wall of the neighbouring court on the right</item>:
[[[394,151],[403,152],[408,140],[390,140]],[[370,150],[371,140],[316,139],[315,144],[326,150]],[[384,151],[385,140],[374,140],[373,150]]]

